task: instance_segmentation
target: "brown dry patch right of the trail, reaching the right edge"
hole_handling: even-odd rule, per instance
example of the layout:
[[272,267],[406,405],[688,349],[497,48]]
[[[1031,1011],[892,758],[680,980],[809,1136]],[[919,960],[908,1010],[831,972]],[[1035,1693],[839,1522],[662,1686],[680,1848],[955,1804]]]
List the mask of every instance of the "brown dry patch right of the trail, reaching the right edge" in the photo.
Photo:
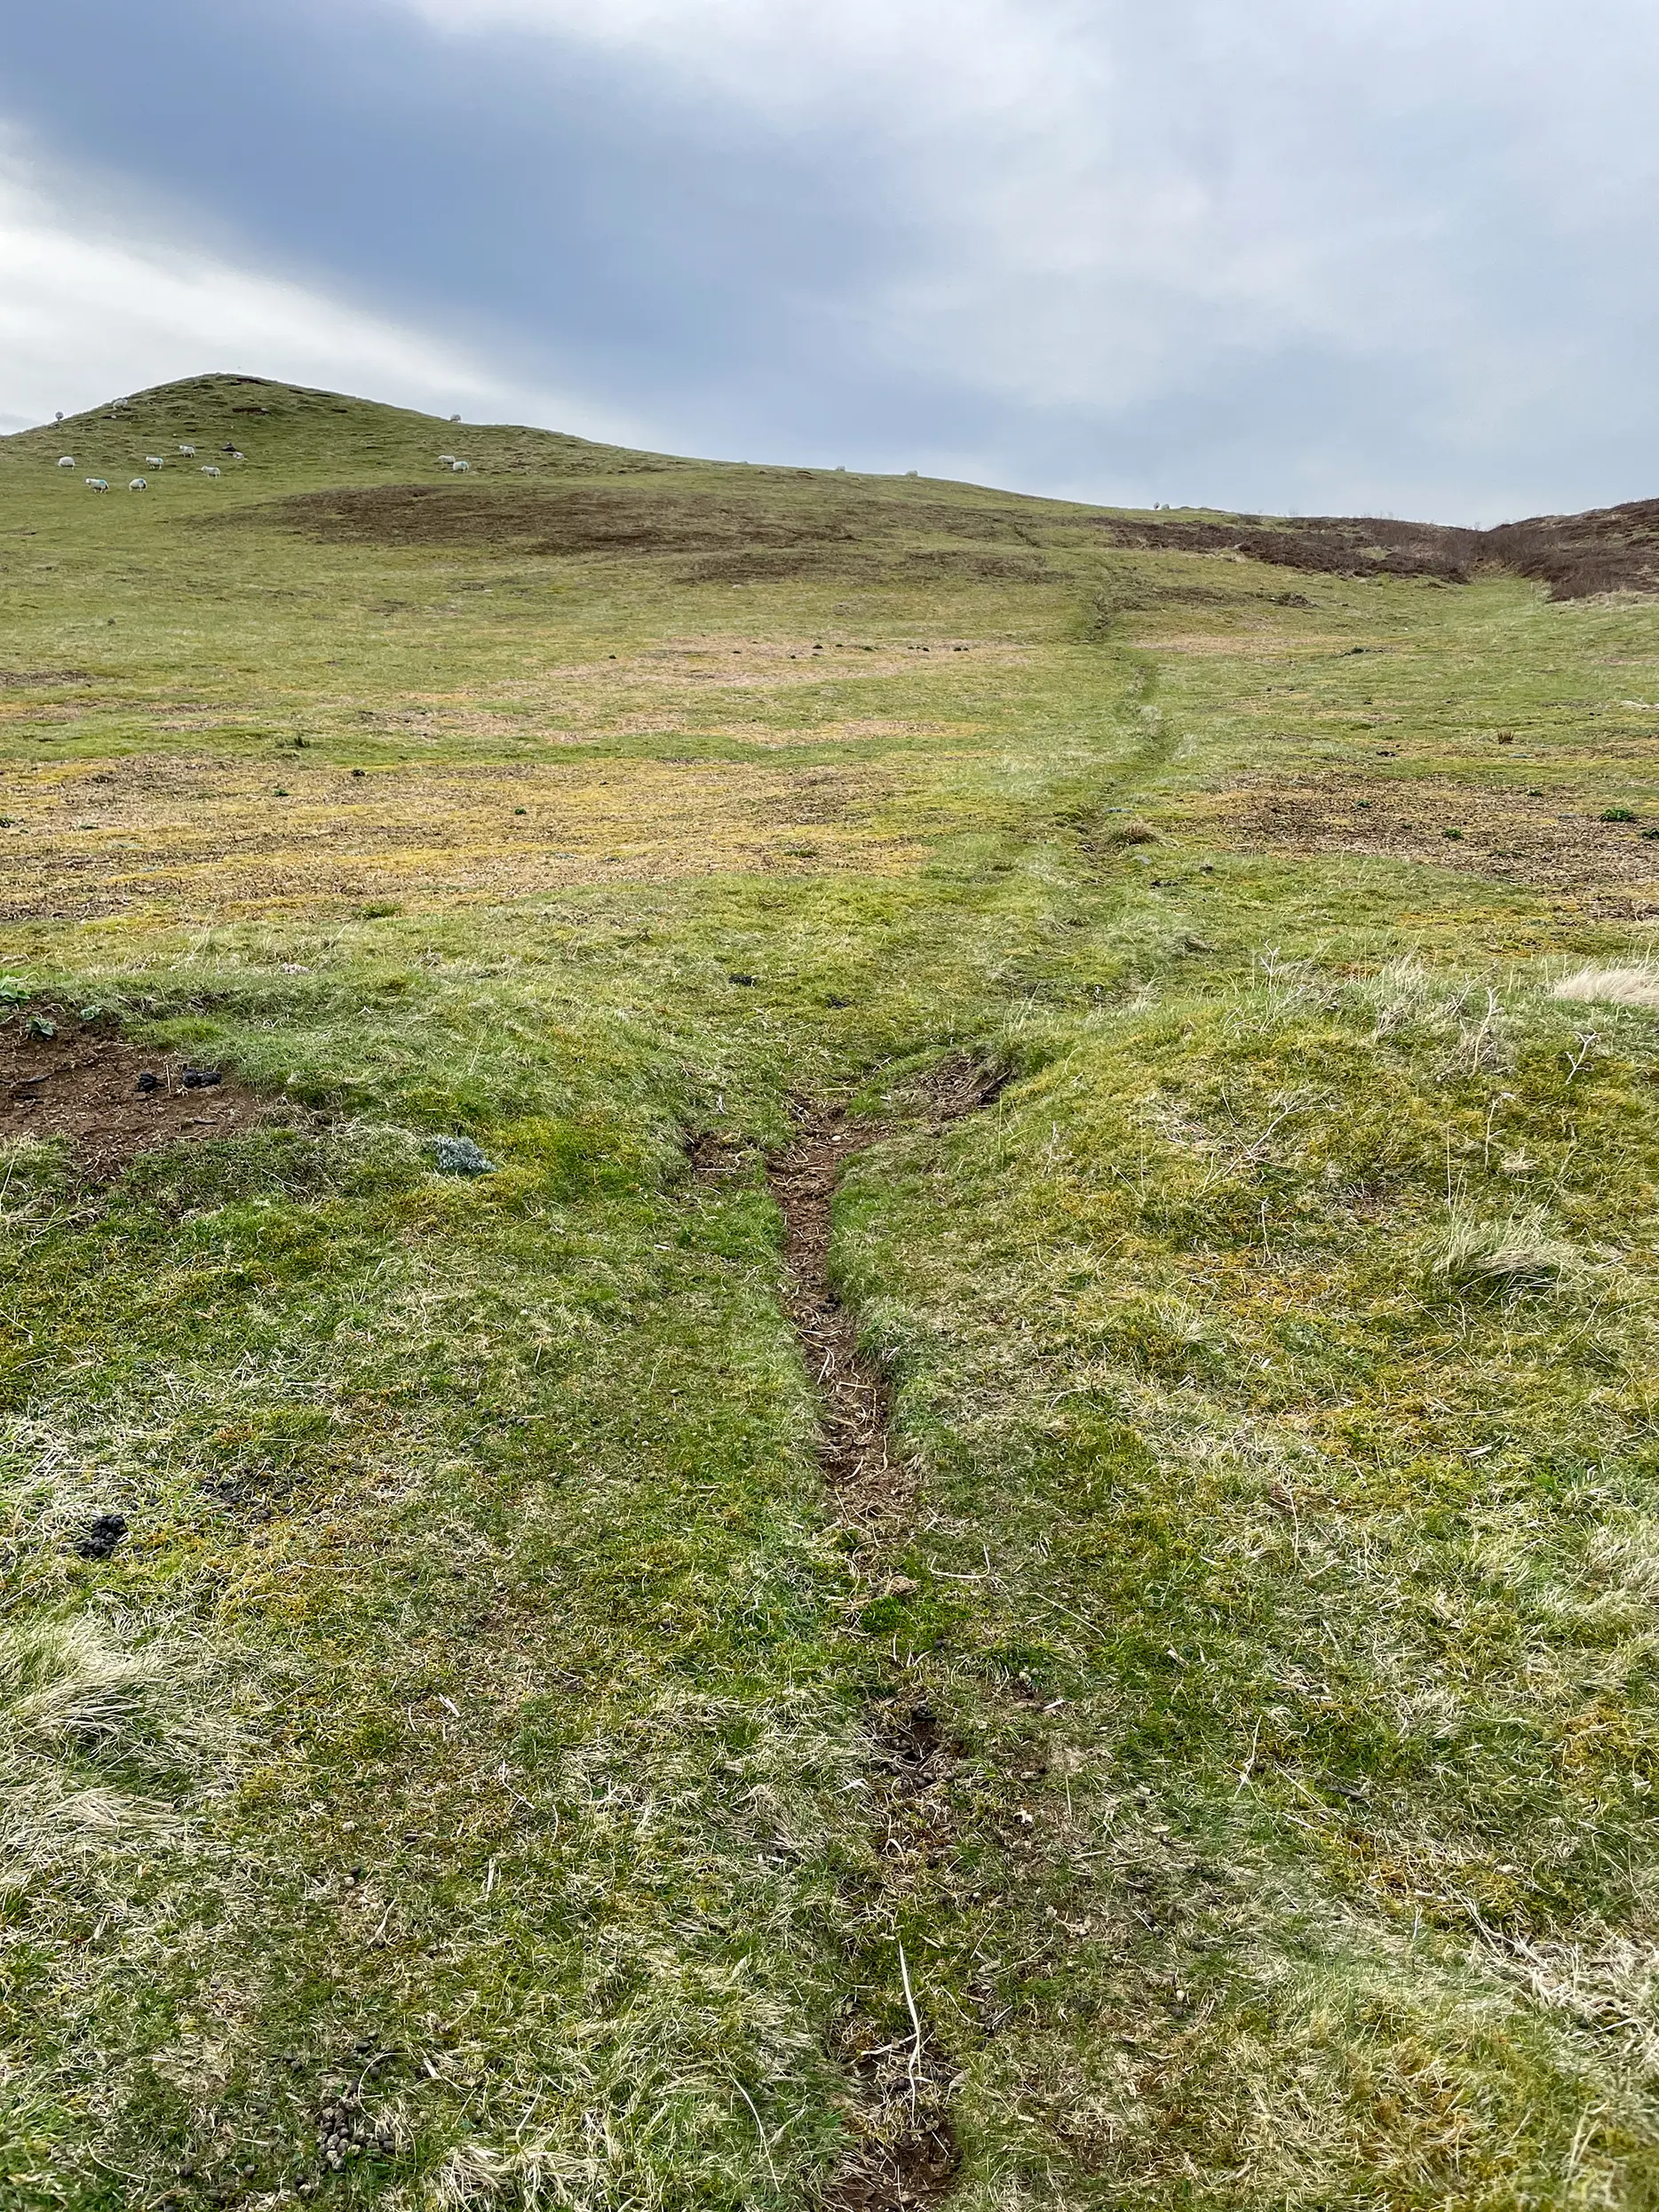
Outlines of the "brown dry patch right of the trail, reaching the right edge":
[[1641,834],[1655,823],[1604,823],[1559,799],[1471,783],[1301,776],[1230,792],[1217,812],[1230,843],[1254,852],[1387,854],[1566,891],[1601,914],[1659,914],[1659,841]]

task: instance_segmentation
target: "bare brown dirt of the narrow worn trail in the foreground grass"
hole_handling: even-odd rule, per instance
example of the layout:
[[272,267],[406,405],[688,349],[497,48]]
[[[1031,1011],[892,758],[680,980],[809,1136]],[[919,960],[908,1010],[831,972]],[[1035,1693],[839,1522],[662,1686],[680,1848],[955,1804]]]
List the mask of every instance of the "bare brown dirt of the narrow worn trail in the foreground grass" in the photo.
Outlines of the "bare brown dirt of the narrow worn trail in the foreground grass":
[[[931,1126],[989,1106],[1000,1071],[951,1055],[927,1079],[920,1104]],[[830,1272],[836,1186],[869,1146],[894,1135],[885,1121],[841,1106],[801,1104],[790,1141],[768,1159],[783,1214],[783,1305],[801,1338],[818,1400],[816,1453],[825,1491],[854,1540],[860,1579],[880,1579],[909,1533],[918,1469],[894,1449],[891,1389],[858,1347],[858,1323]],[[951,1747],[916,1683],[898,1668],[891,1694],[869,1712],[869,1812],[887,1911],[898,1911],[927,1869],[953,1847],[947,1783]],[[845,2068],[858,2141],[830,2181],[823,2212],[925,2212],[951,2194],[960,2148],[951,2128],[956,2068],[931,2033],[896,1944],[909,2033],[896,2039],[856,2004],[832,2046]]]

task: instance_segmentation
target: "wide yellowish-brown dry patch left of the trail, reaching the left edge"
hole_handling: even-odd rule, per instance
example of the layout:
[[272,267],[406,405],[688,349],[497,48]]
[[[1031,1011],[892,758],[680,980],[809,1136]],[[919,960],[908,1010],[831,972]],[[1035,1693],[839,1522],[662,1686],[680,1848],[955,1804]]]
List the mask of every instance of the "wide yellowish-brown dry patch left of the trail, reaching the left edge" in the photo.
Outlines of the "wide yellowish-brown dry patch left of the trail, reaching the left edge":
[[[830,772],[560,761],[365,776],[301,759],[257,770],[53,763],[9,783],[18,827],[0,832],[0,914],[232,916],[310,900],[447,905],[571,883],[803,865],[891,872],[920,858],[914,838],[876,818],[894,796],[894,779],[863,763]],[[799,845],[803,832],[810,849]]]

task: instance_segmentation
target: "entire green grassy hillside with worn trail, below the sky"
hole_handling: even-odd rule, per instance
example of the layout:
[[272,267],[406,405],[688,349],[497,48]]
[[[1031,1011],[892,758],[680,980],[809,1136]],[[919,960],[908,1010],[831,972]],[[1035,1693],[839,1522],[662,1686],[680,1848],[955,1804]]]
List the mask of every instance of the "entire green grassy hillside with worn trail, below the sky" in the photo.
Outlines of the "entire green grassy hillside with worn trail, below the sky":
[[1615,513],[0,440],[7,2203],[1659,2205]]

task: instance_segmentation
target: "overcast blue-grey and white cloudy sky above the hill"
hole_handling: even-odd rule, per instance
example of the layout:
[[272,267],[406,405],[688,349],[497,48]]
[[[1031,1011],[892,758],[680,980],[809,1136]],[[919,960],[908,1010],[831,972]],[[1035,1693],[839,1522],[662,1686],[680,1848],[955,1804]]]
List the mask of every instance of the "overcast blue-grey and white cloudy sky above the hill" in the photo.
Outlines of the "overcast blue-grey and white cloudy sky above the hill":
[[1495,522],[1659,493],[1657,217],[1655,0],[0,0],[0,429]]

